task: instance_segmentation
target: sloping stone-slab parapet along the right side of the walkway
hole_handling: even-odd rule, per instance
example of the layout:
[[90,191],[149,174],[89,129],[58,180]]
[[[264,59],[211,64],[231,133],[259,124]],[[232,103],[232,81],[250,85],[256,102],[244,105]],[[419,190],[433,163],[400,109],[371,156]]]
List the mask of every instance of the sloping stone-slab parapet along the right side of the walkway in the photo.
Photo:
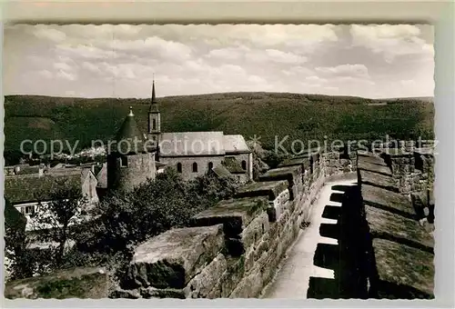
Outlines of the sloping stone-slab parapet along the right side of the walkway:
[[[389,157],[392,163],[399,164],[408,159],[405,154]],[[359,260],[365,263],[368,297],[433,298],[434,238],[419,222],[423,211],[413,206],[409,194],[398,193],[396,187],[385,185],[394,176],[381,173],[383,164],[378,157],[359,156],[358,160],[374,161],[381,166],[359,172],[359,209],[364,220],[359,222],[359,241],[364,242],[359,252],[365,253],[360,254]],[[403,174],[406,173],[410,169],[403,169]],[[412,201],[418,198],[413,196]]]

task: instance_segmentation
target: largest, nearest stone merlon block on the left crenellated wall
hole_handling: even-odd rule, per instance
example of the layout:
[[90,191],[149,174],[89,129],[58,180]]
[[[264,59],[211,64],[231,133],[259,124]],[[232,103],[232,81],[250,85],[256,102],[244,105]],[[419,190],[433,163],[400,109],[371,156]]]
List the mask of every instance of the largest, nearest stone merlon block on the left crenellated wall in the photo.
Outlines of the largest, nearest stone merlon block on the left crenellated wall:
[[181,289],[224,246],[222,225],[169,230],[136,247],[122,288]]

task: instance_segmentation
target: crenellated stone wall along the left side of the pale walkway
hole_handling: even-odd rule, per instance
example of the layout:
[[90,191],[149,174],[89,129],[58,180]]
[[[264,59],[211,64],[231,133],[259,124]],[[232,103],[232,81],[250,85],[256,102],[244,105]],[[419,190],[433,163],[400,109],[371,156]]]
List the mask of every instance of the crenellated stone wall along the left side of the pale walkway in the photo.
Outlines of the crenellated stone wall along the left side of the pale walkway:
[[[306,160],[269,170],[235,198],[195,215],[188,227],[139,245],[111,296],[258,297],[328,180],[325,155],[313,173]],[[347,172],[329,170],[330,178]]]

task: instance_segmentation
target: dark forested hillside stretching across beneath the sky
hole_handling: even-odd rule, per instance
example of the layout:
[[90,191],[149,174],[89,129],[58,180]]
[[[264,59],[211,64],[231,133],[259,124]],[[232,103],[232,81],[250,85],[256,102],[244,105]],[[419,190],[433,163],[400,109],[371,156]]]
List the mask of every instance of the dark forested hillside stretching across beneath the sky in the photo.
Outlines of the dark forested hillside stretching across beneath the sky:
[[[323,140],[431,138],[432,98],[366,99],[351,96],[282,93],[225,93],[158,98],[162,131],[221,130],[226,134],[261,136],[273,147],[289,135]],[[107,140],[133,106],[147,130],[148,99],[69,98],[39,95],[5,96],[5,151],[18,150],[25,139]]]

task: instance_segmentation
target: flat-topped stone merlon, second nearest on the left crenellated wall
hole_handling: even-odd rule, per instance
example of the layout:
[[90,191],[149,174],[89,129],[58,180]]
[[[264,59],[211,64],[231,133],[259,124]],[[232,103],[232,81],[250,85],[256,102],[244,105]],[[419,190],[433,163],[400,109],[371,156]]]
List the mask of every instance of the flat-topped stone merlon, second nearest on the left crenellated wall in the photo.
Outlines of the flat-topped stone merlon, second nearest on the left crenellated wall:
[[267,197],[243,197],[221,201],[193,216],[190,226],[223,224],[227,237],[237,238],[243,229],[268,208]]

